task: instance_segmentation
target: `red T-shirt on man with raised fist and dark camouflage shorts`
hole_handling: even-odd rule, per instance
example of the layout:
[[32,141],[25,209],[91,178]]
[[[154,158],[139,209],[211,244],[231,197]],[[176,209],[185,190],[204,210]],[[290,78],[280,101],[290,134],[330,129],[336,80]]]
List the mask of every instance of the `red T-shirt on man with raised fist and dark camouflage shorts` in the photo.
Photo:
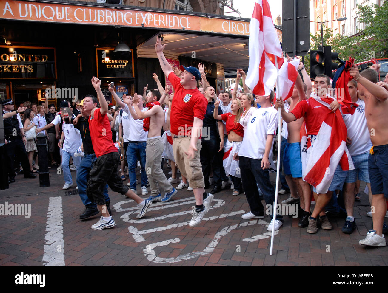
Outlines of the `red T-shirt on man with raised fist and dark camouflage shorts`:
[[118,152],[112,141],[111,124],[107,115],[101,115],[100,108],[94,110],[89,117],[90,137],[96,157],[107,153]]

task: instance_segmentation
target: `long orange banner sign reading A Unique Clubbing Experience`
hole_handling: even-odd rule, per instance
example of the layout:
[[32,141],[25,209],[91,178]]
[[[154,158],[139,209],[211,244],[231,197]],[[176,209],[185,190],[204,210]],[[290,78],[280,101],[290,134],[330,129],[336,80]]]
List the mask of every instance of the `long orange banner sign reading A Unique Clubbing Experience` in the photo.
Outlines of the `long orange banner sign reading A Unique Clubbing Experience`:
[[[0,1],[0,17],[21,21],[120,25],[249,35],[249,22],[157,11],[70,4]],[[281,35],[281,31],[278,30]]]

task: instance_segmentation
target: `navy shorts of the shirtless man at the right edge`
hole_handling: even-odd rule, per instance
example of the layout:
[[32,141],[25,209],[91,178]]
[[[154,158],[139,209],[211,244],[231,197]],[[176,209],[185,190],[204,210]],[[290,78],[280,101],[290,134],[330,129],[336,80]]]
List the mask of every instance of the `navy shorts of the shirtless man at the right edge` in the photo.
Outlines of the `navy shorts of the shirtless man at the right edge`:
[[372,150],[368,158],[372,195],[384,193],[388,198],[388,145],[373,146]]

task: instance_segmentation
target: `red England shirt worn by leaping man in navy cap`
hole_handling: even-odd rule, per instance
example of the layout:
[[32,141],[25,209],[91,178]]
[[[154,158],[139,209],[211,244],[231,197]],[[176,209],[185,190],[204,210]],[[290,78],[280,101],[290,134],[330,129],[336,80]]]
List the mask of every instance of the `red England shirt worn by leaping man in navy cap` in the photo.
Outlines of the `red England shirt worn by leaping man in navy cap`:
[[171,133],[191,136],[194,117],[203,120],[208,101],[197,88],[185,90],[174,72],[168,75],[168,80],[175,89],[170,114]]

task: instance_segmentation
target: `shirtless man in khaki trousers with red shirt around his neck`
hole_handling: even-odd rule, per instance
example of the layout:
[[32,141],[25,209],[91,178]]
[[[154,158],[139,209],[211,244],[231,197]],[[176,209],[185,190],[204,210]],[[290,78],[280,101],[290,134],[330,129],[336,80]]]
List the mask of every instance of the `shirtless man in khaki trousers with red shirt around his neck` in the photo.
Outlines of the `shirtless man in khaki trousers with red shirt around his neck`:
[[[170,87],[167,86],[165,93],[160,98],[159,101],[163,102],[166,97],[166,92],[170,90]],[[148,128],[148,138],[147,146],[145,147],[145,170],[147,172],[149,185],[151,188],[151,195],[148,200],[151,202],[161,201],[168,202],[171,198],[177,194],[177,190],[171,186],[168,182],[165,174],[163,174],[161,163],[162,163],[162,153],[164,150],[164,144],[162,137],[160,135],[163,124],[165,123],[165,114],[163,109],[158,103],[156,103],[156,96],[154,95],[154,90],[151,90],[147,94],[147,108],[148,110],[142,112],[137,105],[139,97],[137,93],[133,95],[133,108],[139,119],[145,119],[149,117],[149,128]],[[159,192],[159,186],[161,190],[165,191],[165,195],[161,196]]]

